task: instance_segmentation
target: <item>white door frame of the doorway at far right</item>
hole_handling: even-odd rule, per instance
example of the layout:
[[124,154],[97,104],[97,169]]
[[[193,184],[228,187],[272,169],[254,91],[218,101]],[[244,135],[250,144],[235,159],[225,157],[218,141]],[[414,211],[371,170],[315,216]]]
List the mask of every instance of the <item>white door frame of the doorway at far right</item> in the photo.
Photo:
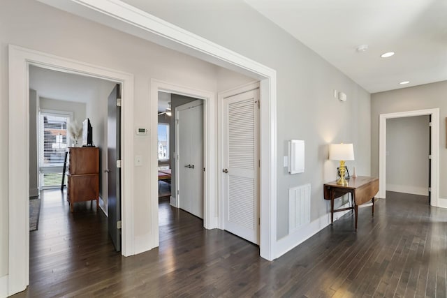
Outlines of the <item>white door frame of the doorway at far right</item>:
[[432,206],[439,206],[439,109],[380,114],[379,118],[379,198],[386,198],[386,120],[413,116],[432,116]]

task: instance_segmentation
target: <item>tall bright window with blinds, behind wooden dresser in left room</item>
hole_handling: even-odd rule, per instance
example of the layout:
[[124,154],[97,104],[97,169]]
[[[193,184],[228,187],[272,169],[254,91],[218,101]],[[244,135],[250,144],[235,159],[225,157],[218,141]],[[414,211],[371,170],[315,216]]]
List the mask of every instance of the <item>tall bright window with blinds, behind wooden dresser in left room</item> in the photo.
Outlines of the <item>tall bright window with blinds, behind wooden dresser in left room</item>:
[[39,114],[39,172],[41,188],[61,186],[62,168],[68,147],[70,114]]

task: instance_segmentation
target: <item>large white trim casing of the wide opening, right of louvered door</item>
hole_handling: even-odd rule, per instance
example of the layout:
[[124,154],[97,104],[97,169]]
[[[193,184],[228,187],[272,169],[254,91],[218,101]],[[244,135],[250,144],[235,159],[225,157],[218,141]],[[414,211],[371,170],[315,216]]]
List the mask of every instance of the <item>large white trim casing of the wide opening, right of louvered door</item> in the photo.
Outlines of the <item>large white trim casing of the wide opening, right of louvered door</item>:
[[[133,36],[261,80],[261,257],[273,260],[277,242],[277,73],[210,40],[119,0],[38,0]],[[152,105],[151,105],[152,106]],[[152,107],[151,110],[154,110]],[[154,177],[151,177],[151,179]],[[152,179],[154,181],[154,179]],[[217,194],[216,194],[217,195]]]

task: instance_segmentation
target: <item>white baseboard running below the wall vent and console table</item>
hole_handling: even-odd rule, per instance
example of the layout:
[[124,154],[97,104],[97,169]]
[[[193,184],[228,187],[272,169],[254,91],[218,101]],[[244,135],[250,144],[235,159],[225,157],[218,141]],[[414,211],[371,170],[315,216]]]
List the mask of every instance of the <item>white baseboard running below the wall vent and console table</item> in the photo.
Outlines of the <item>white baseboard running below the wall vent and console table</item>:
[[[346,208],[349,207],[350,204],[351,204],[350,202],[347,202],[346,204],[336,208],[337,209]],[[334,213],[334,221],[337,221],[337,219],[341,218],[342,216],[344,216],[344,214],[348,213],[349,211],[350,210]],[[277,240],[274,258],[279,258],[281,257],[281,255],[284,255],[284,253],[291,251],[293,248],[300,245],[302,242],[306,241],[310,237],[314,236],[314,234],[320,232],[321,230],[323,230],[323,228],[326,228],[328,225],[330,225],[330,212],[328,214],[320,216],[315,221],[312,221],[308,225],[300,228],[300,230],[295,231],[292,234],[288,234],[286,237]]]

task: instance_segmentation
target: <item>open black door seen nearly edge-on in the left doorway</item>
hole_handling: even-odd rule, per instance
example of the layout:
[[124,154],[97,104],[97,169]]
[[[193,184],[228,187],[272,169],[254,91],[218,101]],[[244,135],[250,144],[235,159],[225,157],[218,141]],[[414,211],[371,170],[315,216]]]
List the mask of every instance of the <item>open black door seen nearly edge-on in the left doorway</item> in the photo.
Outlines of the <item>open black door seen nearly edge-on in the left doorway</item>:
[[117,251],[121,251],[121,169],[117,161],[121,160],[121,107],[119,84],[108,98],[108,226],[109,234]]

